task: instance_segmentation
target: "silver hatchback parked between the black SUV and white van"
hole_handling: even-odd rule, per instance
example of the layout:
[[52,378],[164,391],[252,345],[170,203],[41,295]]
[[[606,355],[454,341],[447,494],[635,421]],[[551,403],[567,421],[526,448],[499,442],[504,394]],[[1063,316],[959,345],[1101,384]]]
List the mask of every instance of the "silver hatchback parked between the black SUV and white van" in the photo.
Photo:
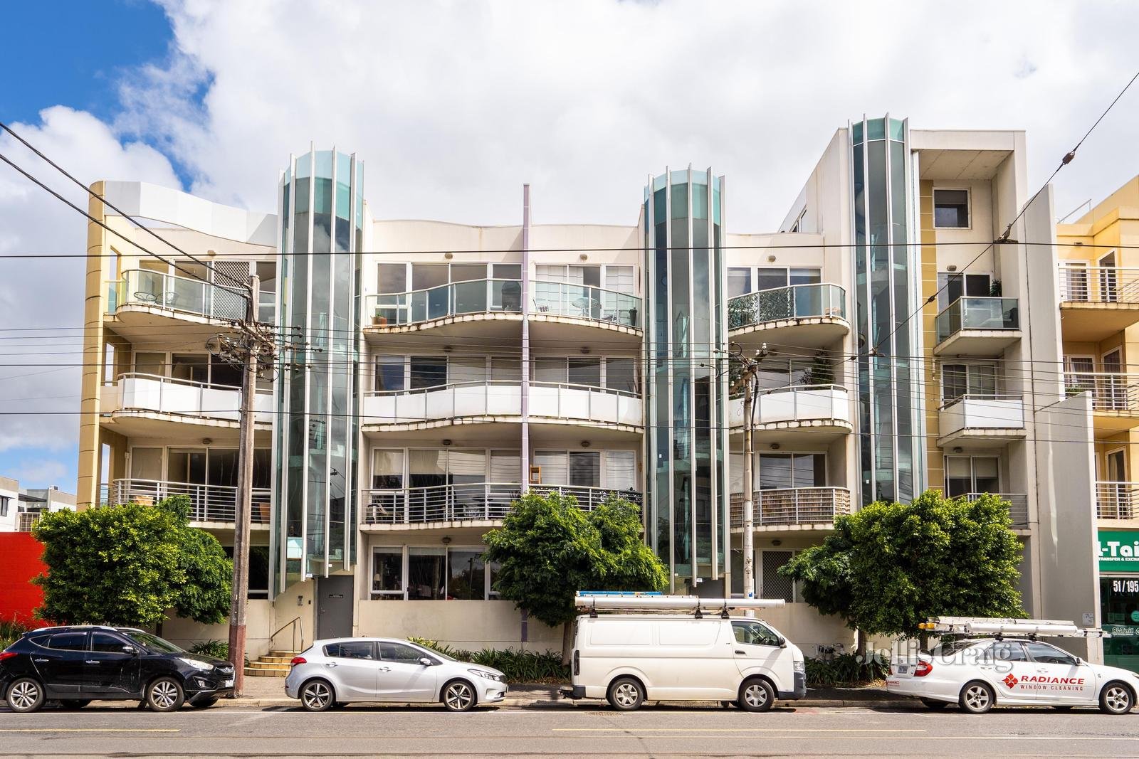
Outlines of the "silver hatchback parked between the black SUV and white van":
[[449,711],[506,698],[506,678],[409,641],[335,638],[316,641],[293,659],[285,693],[309,711],[349,701],[441,702]]

